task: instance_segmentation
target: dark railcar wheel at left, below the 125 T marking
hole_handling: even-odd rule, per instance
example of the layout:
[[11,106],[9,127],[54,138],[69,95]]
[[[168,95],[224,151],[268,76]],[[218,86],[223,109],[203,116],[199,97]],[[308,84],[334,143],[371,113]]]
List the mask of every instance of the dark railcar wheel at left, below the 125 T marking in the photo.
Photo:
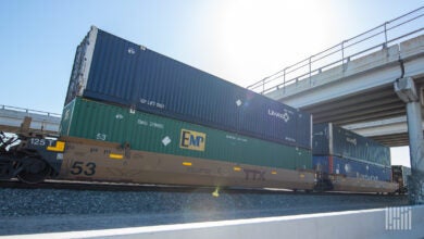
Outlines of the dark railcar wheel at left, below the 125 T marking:
[[17,174],[17,179],[25,184],[38,184],[50,174],[50,166],[40,159],[32,159],[24,169]]

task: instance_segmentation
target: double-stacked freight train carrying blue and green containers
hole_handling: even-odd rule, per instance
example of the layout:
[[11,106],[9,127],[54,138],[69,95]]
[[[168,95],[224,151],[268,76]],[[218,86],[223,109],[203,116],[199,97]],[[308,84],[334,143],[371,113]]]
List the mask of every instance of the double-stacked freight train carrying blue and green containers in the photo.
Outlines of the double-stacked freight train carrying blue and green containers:
[[77,47],[60,135],[0,139],[0,178],[399,191],[389,149],[97,27]]

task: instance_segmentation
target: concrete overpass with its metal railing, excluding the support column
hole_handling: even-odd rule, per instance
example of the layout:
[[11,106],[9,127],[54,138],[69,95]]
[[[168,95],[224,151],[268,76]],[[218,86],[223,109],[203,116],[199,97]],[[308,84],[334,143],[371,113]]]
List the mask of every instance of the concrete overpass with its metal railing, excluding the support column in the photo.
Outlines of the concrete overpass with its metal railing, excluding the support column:
[[[424,86],[424,7],[265,77],[248,88],[390,146],[408,146],[399,78]],[[373,126],[373,127],[371,127]],[[375,128],[378,126],[378,130]]]

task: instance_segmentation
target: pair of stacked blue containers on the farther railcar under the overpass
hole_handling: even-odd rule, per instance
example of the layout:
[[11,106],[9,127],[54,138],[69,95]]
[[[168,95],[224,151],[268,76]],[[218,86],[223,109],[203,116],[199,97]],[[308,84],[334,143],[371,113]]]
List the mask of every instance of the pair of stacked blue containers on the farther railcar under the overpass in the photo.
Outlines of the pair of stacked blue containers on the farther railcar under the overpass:
[[390,149],[332,123],[313,128],[315,169],[374,180],[391,180]]

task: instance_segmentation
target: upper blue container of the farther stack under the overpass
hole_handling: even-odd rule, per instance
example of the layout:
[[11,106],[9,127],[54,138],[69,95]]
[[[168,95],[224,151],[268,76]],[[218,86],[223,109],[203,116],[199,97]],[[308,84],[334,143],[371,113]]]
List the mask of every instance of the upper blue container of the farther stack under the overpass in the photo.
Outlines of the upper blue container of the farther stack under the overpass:
[[331,123],[313,126],[313,154],[390,165],[390,149]]

